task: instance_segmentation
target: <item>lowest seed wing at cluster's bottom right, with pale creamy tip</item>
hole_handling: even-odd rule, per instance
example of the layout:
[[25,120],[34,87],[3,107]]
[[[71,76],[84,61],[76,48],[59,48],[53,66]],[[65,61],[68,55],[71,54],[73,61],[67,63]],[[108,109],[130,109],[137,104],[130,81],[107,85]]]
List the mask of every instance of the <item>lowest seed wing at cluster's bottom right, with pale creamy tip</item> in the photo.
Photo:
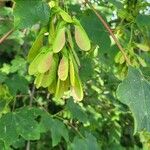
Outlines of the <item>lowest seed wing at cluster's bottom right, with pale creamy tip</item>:
[[71,87],[71,94],[73,98],[77,101],[81,101],[83,99],[83,89],[82,84],[79,77],[76,75],[75,84]]

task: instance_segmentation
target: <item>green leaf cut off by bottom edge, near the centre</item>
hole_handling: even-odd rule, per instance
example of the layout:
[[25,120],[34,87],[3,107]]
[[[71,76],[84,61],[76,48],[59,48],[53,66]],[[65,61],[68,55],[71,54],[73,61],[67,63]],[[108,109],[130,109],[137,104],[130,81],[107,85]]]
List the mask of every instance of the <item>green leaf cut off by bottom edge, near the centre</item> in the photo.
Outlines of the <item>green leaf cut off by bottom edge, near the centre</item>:
[[100,150],[97,139],[90,133],[83,139],[76,136],[71,146],[72,150]]

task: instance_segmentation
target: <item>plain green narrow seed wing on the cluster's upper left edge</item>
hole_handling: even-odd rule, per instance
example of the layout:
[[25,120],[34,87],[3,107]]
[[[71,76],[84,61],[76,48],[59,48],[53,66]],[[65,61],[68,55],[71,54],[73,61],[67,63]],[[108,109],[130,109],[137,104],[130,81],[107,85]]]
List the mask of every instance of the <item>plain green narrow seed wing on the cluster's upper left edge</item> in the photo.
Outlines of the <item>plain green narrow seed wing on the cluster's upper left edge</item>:
[[29,62],[33,61],[33,59],[38,55],[38,53],[41,50],[41,47],[43,46],[43,39],[44,39],[44,33],[47,31],[47,29],[44,27],[41,29],[40,33],[38,34],[36,40],[32,44],[32,47],[29,50],[29,54],[27,57],[27,60]]

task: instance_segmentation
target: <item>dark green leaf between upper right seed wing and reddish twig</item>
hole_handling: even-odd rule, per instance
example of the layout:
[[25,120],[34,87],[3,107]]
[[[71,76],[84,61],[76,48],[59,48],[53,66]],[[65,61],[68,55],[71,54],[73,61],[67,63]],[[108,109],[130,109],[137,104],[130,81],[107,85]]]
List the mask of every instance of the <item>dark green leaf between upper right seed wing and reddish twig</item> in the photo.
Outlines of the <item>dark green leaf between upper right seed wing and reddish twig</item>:
[[88,10],[80,17],[80,20],[90,40],[100,47],[101,53],[108,51],[111,44],[109,33],[95,14],[91,10]]

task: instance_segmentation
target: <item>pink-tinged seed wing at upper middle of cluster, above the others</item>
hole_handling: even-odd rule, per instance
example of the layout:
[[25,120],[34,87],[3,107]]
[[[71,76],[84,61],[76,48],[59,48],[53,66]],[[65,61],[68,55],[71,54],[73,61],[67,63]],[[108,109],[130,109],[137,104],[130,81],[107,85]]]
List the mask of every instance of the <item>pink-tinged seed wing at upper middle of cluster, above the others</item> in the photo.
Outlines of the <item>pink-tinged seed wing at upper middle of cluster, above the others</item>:
[[53,42],[53,52],[58,53],[61,51],[65,45],[66,37],[65,37],[65,27],[58,28],[56,37]]

